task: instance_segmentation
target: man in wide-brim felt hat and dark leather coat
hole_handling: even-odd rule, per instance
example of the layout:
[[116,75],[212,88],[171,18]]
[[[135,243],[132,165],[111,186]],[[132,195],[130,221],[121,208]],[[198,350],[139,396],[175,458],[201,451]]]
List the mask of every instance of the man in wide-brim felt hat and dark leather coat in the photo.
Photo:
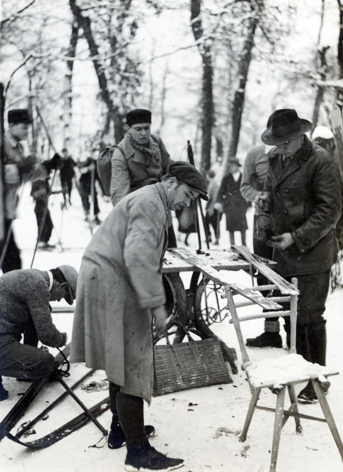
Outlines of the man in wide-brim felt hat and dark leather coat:
[[[323,318],[336,256],[335,225],[341,215],[340,173],[333,158],[305,135],[310,121],[295,110],[276,110],[261,135],[275,145],[262,195],[256,203],[273,221],[273,259],[287,280],[298,278],[297,353],[325,365],[326,320]],[[285,319],[289,344],[290,322]],[[298,399],[316,401],[309,384]]]

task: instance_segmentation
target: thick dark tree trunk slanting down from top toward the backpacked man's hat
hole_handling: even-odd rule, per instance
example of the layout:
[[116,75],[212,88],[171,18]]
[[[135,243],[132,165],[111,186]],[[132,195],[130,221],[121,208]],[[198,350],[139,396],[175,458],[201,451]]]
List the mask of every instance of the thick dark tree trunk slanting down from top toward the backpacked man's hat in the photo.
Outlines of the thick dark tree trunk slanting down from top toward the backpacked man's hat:
[[113,119],[114,122],[116,122],[117,109],[114,106],[110,93],[109,93],[109,88],[107,84],[107,78],[105,75],[104,67],[103,67],[102,62],[99,59],[95,59],[99,57],[99,49],[92,33],[91,20],[89,17],[83,16],[81,8],[76,5],[76,0],[69,0],[69,5],[70,5],[71,11],[74,17],[77,19],[77,23],[79,27],[82,28],[84,31],[84,37],[86,38],[88,42],[88,47],[91,53],[91,57],[94,58],[92,59],[92,61],[94,64],[96,75],[98,77],[101,98],[106,104],[111,118]]

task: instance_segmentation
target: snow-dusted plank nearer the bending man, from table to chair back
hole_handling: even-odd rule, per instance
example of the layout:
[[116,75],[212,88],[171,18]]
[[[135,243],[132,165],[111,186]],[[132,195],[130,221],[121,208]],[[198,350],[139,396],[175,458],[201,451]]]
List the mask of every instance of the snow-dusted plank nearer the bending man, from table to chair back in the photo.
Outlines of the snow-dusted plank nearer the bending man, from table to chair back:
[[194,256],[192,253],[187,251],[187,249],[180,247],[172,249],[172,251],[173,253],[178,254],[187,262],[192,264],[193,267],[199,269],[203,274],[206,275],[206,277],[213,280],[213,282],[223,286],[229,285],[237,293],[243,295],[246,298],[249,298],[249,300],[252,300],[263,308],[266,308],[268,310],[280,310],[282,308],[282,306],[278,303],[273,302],[269,298],[263,297],[258,292],[253,291],[250,288],[243,287],[243,285],[240,284],[233,284],[232,281],[229,280],[229,278],[227,277],[227,274],[223,274],[221,272],[218,272],[218,270],[213,269],[213,267],[211,267],[209,264],[206,264],[205,262],[201,261],[199,257]]

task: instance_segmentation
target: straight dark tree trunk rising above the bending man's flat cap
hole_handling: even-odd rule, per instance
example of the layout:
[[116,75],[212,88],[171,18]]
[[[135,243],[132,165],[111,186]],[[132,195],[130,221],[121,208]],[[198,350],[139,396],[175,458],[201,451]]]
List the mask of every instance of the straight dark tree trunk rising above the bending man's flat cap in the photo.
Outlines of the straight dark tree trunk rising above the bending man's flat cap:
[[[195,41],[203,36],[201,23],[201,0],[191,0],[191,22]],[[213,65],[211,48],[208,43],[199,44],[202,59],[202,99],[201,99],[201,172],[211,166],[212,129],[214,124],[213,105]]]

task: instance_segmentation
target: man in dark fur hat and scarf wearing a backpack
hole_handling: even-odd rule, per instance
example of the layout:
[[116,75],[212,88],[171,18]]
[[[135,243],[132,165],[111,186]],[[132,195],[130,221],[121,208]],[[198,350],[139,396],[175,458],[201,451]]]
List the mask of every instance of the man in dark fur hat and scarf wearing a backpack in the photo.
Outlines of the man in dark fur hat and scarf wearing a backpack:
[[[126,135],[111,160],[113,206],[144,185],[156,184],[167,173],[170,156],[161,138],[151,135],[151,111],[136,109],[126,114]],[[168,220],[169,247],[176,246],[172,219]]]

